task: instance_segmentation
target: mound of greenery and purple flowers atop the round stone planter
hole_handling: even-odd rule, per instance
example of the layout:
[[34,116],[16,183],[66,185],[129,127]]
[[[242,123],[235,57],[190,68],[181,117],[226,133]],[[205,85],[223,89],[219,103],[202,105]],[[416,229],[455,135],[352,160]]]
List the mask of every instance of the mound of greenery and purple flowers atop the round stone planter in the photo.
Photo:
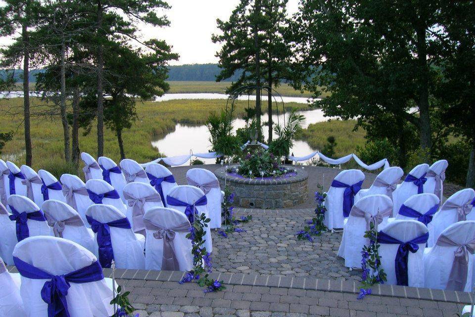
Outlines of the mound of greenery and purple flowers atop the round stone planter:
[[249,178],[281,177],[292,171],[293,169],[279,166],[279,158],[264,149],[247,152],[244,159],[239,160],[237,167],[230,167],[227,170],[228,173]]

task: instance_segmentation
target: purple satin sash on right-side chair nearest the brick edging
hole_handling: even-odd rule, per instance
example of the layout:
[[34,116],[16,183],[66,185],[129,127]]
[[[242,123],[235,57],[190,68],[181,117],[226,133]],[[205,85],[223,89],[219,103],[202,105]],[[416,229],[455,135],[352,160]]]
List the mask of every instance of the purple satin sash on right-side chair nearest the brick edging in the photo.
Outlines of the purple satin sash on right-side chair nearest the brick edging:
[[429,233],[416,237],[408,242],[399,241],[384,232],[378,232],[378,242],[384,244],[399,244],[396,258],[394,259],[394,269],[396,271],[397,285],[408,286],[407,261],[409,252],[416,253],[419,250],[419,244],[426,244]]

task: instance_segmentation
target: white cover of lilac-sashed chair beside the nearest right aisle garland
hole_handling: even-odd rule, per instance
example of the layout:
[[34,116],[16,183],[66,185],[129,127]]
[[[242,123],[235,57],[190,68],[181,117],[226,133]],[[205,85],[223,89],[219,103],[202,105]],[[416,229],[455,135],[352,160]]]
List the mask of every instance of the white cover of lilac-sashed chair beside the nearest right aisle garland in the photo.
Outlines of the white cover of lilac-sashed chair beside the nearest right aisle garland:
[[[368,216],[362,215],[361,211]],[[378,216],[379,214],[379,216]],[[361,267],[361,250],[368,245],[364,237],[368,224],[378,224],[378,230],[387,225],[387,218],[392,214],[392,201],[386,195],[369,195],[361,198],[351,209],[348,221],[343,227],[338,256],[345,259],[346,267]]]

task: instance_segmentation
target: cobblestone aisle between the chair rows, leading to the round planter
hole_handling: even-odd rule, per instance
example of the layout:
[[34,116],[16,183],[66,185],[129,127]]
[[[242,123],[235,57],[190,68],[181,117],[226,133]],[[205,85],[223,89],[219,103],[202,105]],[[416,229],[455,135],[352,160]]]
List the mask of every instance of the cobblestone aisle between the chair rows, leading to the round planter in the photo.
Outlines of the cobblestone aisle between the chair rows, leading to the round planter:
[[247,232],[234,232],[223,238],[212,233],[213,263],[216,271],[258,273],[317,278],[357,279],[343,259],[336,257],[341,233],[327,232],[313,242],[298,241],[313,210],[237,209],[237,215],[251,214],[252,220],[240,224]]

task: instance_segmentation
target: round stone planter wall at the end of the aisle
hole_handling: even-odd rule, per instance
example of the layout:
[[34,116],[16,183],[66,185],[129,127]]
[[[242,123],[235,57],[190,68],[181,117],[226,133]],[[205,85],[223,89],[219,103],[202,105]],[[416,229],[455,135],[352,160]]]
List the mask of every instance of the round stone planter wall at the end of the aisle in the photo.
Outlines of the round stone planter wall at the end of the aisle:
[[218,168],[214,174],[221,188],[225,187],[226,182],[231,192],[235,194],[234,205],[238,207],[288,208],[300,205],[308,199],[308,174],[302,167],[297,167],[295,176],[276,179],[241,178],[226,174],[225,167]]

